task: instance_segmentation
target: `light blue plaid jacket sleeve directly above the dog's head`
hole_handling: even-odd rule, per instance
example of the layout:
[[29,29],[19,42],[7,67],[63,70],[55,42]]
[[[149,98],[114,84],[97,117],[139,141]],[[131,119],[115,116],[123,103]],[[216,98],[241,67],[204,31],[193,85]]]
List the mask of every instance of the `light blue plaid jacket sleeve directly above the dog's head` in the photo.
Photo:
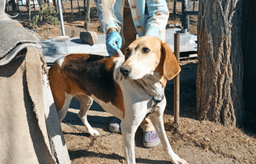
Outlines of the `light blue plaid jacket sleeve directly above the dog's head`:
[[148,0],[146,6],[148,19],[145,35],[159,37],[159,33],[166,28],[169,18],[167,3],[165,0]]

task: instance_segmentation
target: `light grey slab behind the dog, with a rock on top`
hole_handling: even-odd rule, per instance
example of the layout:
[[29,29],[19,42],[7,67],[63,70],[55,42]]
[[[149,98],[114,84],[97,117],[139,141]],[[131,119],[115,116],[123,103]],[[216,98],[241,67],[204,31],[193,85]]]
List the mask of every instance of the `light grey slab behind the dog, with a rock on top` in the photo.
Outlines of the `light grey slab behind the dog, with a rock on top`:
[[[166,42],[174,51],[174,33],[180,32],[180,28],[173,28],[166,30]],[[137,36],[138,38],[138,36]],[[80,37],[73,37],[65,41],[42,40],[42,47],[44,49],[44,57],[47,63],[52,63],[56,59],[63,57],[65,54],[71,53],[91,53],[108,56],[106,51],[106,36],[104,34],[98,35],[98,42],[94,45],[85,44]],[[197,51],[197,35],[196,34],[182,34],[180,35],[180,52]]]

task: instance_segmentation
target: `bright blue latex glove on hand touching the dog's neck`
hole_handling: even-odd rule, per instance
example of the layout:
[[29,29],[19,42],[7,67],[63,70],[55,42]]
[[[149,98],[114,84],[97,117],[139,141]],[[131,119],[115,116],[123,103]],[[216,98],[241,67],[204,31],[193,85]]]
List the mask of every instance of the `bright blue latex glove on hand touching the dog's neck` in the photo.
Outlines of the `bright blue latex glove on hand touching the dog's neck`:
[[[114,46],[114,42],[117,44],[117,46]],[[106,38],[106,48],[110,55],[110,57],[113,57],[113,54],[117,52],[118,49],[121,49],[122,46],[122,37],[120,36],[119,32],[112,31],[108,34]]]

